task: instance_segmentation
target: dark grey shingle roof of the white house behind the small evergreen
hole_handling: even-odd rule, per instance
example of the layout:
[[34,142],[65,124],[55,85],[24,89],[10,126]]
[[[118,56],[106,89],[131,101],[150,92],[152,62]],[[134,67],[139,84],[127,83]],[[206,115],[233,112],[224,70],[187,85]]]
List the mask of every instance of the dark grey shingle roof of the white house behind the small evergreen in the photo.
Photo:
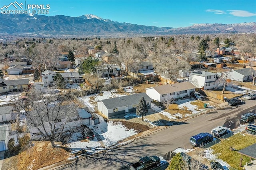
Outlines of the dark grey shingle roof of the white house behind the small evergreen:
[[152,99],[146,93],[137,93],[134,95],[104,99],[102,100],[102,103],[107,109],[114,109],[122,106],[138,104],[142,96],[146,101],[152,101]]

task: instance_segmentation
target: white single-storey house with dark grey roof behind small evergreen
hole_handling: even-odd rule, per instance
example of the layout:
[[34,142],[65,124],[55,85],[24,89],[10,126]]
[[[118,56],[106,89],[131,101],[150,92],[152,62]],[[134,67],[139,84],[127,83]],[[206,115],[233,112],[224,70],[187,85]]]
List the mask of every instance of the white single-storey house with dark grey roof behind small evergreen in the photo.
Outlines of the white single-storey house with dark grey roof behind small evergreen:
[[98,111],[100,111],[107,118],[136,111],[136,107],[141,97],[144,97],[148,108],[150,108],[152,99],[146,93],[136,93],[134,95],[98,101]]

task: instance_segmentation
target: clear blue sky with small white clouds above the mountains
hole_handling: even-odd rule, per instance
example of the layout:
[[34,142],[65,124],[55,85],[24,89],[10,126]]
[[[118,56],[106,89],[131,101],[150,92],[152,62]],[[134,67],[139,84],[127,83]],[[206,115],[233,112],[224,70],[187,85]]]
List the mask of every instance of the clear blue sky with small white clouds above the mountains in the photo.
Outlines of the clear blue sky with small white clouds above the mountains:
[[[0,8],[11,2],[15,0],[1,0]],[[48,16],[94,14],[117,22],[157,27],[256,22],[256,0],[26,0],[26,4],[50,4]]]

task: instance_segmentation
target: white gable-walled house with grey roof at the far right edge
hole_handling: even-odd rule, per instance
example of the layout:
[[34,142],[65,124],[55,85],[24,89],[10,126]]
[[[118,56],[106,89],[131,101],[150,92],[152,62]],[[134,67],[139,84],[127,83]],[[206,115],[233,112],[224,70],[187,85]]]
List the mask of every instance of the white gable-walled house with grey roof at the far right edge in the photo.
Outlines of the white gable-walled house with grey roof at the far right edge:
[[[256,76],[256,71],[254,70],[254,76]],[[248,81],[252,80],[252,70],[251,68],[243,68],[243,69],[236,69],[232,71],[227,71],[224,73],[228,73],[228,79],[235,80],[235,81]]]

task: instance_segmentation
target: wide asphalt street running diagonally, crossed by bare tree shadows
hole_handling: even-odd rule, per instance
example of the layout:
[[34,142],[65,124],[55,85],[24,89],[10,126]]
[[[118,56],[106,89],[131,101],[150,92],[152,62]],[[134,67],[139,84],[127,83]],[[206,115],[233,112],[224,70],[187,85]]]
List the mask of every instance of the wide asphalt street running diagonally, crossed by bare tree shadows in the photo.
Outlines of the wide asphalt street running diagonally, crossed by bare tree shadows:
[[[168,128],[164,128],[142,138],[109,150],[102,154],[79,160],[62,166],[58,169],[65,170],[122,170],[147,155],[162,156],[169,159],[172,150],[176,148],[192,148],[189,143],[191,136],[200,132],[210,132],[216,126],[230,127],[239,126],[239,117],[247,112],[256,113],[256,100],[244,100],[239,106],[226,105],[222,108],[210,111],[180,122]],[[161,169],[161,168],[160,168]]]

